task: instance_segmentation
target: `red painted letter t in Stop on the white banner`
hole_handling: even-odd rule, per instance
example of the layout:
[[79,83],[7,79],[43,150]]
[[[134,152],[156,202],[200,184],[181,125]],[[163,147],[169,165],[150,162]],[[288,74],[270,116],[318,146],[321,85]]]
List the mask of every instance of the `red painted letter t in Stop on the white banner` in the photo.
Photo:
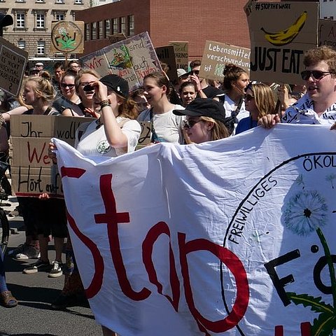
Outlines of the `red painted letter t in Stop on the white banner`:
[[123,290],[123,293],[132,300],[145,300],[149,295],[151,295],[151,290],[142,288],[139,292],[136,292],[133,290],[130,281],[127,278],[123,255],[121,255],[120,251],[118,223],[130,223],[130,214],[128,212],[117,212],[116,200],[113,195],[111,183],[112,174],[100,176],[99,188],[104,202],[105,214],[95,214],[94,220],[97,224],[107,224],[107,234],[109,236],[111,256],[113,265],[117,272],[121,290]]

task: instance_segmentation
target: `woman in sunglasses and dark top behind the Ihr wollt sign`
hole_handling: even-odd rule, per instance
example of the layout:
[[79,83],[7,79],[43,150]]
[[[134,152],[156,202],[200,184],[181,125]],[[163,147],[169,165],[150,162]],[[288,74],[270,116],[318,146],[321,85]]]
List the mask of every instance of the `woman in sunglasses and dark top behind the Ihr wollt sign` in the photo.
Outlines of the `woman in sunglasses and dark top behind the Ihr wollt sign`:
[[75,78],[77,73],[73,70],[67,70],[62,76],[59,87],[61,88],[62,96],[58,97],[52,106],[62,113],[63,116],[83,116],[78,104],[80,98],[76,94]]

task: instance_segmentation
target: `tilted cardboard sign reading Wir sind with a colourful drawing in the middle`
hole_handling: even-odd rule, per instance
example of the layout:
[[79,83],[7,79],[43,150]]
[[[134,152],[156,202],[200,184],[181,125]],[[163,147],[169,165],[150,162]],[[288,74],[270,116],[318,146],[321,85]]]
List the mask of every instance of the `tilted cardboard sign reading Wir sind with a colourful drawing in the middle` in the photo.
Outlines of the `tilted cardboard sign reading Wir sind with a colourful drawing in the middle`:
[[102,76],[114,73],[125,78],[130,90],[141,86],[148,73],[162,71],[147,31],[85,55],[79,61],[82,67]]

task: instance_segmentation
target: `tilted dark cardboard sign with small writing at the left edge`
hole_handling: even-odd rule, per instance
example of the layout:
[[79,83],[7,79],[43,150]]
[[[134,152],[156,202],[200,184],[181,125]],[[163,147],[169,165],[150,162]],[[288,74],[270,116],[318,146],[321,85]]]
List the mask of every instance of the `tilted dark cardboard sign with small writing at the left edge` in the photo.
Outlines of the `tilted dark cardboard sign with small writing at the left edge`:
[[18,96],[25,74],[28,52],[0,37],[0,88]]

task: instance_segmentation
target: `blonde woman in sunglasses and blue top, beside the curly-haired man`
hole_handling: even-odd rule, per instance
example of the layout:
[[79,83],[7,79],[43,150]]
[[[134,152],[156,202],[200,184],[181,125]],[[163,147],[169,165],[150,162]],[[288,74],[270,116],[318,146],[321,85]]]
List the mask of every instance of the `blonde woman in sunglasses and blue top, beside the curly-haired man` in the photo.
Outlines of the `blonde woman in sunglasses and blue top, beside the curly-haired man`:
[[236,134],[251,130],[258,125],[258,120],[269,113],[274,113],[275,99],[269,85],[248,84],[246,87],[245,109],[250,112],[250,116],[239,121]]

